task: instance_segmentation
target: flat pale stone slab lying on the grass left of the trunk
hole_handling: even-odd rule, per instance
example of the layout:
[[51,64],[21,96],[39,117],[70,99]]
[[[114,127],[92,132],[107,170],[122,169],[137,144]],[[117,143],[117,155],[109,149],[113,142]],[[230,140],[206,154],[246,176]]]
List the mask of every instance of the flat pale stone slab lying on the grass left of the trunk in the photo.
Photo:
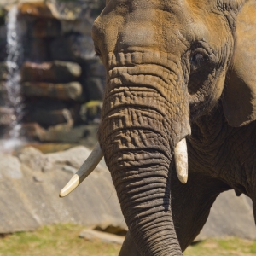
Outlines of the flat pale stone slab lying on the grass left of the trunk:
[[79,234],[80,238],[84,238],[87,241],[102,241],[106,243],[123,244],[125,236],[116,236],[96,230],[83,230]]

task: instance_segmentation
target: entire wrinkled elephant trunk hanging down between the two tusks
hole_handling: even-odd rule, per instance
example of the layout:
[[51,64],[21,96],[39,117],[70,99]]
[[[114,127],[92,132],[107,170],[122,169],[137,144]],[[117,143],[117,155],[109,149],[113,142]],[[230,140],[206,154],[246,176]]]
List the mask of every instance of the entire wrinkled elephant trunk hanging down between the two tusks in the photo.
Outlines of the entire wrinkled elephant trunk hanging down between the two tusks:
[[155,68],[141,76],[131,69],[110,72],[99,142],[141,255],[182,255],[172,223],[170,172],[174,148],[190,132],[186,90],[168,84],[167,96]]

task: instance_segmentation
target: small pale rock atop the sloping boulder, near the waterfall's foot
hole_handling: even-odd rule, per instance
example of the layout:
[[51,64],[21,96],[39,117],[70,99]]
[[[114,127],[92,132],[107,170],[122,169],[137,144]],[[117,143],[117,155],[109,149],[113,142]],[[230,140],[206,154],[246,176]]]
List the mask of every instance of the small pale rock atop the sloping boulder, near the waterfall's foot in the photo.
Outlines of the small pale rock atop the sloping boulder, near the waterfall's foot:
[[47,157],[36,148],[22,148],[17,154],[20,163],[30,167],[34,172],[46,172],[52,168]]

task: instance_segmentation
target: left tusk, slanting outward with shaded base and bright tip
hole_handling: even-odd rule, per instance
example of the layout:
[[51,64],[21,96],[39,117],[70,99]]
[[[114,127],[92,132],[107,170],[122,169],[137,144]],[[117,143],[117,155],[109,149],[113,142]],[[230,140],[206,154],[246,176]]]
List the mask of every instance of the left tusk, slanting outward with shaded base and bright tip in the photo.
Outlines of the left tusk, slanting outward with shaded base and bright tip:
[[79,171],[71,178],[67,185],[61,189],[60,197],[64,197],[77,188],[84,178],[96,168],[100,160],[102,160],[103,152],[99,143],[96,143],[95,148],[90,153],[89,157],[84,161],[84,164],[79,168]]

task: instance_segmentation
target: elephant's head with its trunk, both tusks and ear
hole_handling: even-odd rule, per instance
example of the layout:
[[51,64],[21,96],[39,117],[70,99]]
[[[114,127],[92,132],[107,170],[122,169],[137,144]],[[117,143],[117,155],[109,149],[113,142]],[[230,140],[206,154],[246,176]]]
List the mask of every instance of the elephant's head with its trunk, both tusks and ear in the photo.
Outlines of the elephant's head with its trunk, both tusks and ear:
[[[210,113],[219,99],[230,125],[256,119],[255,79],[250,78],[256,63],[241,45],[245,25],[236,30],[241,14],[241,23],[255,31],[255,22],[243,12],[251,11],[248,6],[255,14],[255,3],[245,0],[107,0],[94,23],[92,37],[106,67],[107,88],[93,154],[97,160],[105,156],[141,255],[182,255],[170,178],[176,169],[186,183],[190,124]],[[246,90],[248,106],[238,100],[237,88]],[[89,168],[84,173],[83,166],[61,196],[95,165],[89,160]]]

